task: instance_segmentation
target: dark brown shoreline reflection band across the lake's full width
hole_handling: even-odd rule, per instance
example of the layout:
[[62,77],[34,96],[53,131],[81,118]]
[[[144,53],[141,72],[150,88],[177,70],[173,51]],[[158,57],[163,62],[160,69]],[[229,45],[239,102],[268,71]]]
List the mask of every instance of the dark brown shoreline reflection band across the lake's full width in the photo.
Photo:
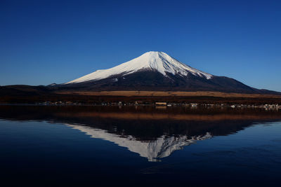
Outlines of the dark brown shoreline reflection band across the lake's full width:
[[0,118],[112,118],[119,120],[281,120],[281,111],[261,109],[188,109],[118,106],[0,106]]

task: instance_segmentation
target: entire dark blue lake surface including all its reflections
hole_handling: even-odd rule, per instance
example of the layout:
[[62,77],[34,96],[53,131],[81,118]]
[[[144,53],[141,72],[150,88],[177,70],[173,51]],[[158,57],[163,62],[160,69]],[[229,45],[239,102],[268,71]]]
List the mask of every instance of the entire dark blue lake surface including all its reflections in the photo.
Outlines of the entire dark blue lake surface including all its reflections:
[[1,186],[280,186],[281,112],[0,106]]

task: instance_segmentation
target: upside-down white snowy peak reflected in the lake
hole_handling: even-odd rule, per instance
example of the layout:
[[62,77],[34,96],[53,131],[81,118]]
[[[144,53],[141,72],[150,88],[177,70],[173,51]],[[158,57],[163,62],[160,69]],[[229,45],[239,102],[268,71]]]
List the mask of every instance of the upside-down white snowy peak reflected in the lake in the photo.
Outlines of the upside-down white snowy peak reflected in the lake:
[[119,146],[123,146],[134,153],[138,153],[142,157],[148,158],[149,161],[157,161],[158,158],[164,158],[176,150],[180,150],[183,146],[188,146],[197,140],[209,139],[211,134],[207,133],[204,136],[197,136],[188,138],[186,135],[179,137],[162,137],[157,138],[155,141],[138,141],[134,137],[120,137],[117,134],[110,134],[105,130],[100,130],[93,127],[82,125],[68,125],[74,129],[85,132],[93,138],[105,139],[114,142]]

